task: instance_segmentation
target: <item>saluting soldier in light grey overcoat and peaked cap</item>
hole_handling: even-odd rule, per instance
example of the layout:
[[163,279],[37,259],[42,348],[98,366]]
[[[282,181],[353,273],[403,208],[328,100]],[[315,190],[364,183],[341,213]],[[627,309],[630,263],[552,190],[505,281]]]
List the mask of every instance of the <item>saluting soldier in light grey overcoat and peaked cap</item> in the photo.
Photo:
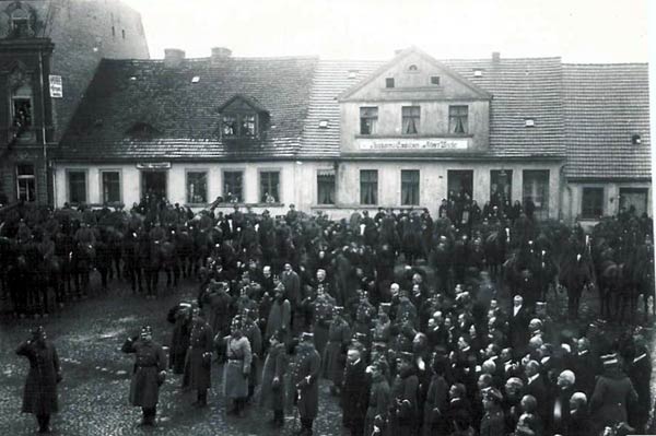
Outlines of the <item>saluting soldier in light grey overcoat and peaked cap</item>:
[[248,376],[253,355],[250,343],[244,335],[244,321],[241,316],[234,317],[231,325],[231,334],[214,338],[220,356],[226,361],[223,366],[223,394],[232,401],[227,414],[244,416],[244,406],[248,396]]

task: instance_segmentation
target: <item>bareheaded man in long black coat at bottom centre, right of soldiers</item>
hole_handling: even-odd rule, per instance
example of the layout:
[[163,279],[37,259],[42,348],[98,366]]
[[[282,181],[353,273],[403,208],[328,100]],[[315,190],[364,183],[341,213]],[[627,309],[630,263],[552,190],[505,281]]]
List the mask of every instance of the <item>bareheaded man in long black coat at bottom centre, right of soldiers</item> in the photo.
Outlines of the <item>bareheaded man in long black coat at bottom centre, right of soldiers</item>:
[[367,377],[366,363],[360,350],[352,347],[347,354],[347,367],[342,385],[342,424],[352,435],[362,435],[366,415]]

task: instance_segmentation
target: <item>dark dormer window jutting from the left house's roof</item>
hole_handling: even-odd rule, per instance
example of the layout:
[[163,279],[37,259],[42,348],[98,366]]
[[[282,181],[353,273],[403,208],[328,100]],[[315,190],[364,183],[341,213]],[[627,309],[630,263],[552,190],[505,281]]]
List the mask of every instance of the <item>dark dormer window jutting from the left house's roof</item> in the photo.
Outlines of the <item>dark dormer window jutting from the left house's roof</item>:
[[226,139],[257,138],[267,125],[268,111],[254,98],[236,95],[219,108],[221,135]]

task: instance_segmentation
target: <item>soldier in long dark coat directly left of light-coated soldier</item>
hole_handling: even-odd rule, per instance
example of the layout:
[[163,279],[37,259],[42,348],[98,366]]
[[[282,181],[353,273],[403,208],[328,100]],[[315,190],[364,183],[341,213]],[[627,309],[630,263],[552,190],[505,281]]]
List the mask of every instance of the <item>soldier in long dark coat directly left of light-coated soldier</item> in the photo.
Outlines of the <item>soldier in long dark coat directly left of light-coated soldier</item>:
[[194,405],[199,408],[208,404],[208,389],[212,384],[211,363],[214,334],[212,328],[200,317],[200,309],[192,309],[189,351],[185,361],[183,387],[196,389],[197,398]]

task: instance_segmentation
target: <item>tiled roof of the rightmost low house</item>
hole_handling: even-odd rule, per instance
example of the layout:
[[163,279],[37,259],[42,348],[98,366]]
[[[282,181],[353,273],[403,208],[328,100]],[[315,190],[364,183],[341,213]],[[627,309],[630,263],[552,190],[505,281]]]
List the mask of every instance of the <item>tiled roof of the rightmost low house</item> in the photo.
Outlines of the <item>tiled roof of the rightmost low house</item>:
[[[563,64],[569,178],[649,178],[646,63]],[[634,145],[632,135],[642,143]]]

